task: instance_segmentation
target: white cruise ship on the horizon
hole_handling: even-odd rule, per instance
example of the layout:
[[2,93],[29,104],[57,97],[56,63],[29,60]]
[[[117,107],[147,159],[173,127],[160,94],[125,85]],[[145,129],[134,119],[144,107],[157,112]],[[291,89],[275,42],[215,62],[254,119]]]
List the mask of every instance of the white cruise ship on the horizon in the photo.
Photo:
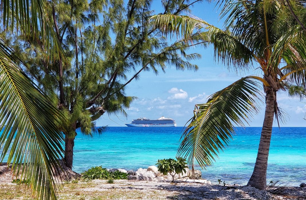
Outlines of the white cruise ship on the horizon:
[[140,117],[136,120],[132,120],[131,123],[125,124],[128,127],[174,127],[176,122],[169,117],[160,117],[157,120],[150,120],[145,117]]

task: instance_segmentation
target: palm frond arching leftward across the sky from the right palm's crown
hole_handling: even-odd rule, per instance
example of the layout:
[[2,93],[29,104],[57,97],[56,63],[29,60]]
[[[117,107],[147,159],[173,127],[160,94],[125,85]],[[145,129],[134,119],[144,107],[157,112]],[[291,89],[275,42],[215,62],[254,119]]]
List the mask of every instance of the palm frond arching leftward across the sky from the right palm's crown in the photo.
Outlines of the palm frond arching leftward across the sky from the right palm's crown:
[[229,31],[223,31],[202,19],[164,14],[152,16],[151,20],[162,32],[176,34],[186,40],[191,40],[194,34],[198,37],[203,35],[203,40],[214,45],[215,60],[227,66],[248,68],[255,59],[254,54]]

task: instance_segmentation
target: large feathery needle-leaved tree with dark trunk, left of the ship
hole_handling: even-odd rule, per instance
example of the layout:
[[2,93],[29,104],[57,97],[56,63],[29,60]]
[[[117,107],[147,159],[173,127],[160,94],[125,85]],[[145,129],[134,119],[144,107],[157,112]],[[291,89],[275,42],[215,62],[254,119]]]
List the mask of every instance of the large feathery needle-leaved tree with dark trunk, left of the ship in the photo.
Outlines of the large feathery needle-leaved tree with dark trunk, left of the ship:
[[[162,2],[163,13],[188,12],[194,2]],[[103,131],[94,129],[103,114],[126,116],[135,97],[126,95],[125,88],[142,71],[198,68],[189,61],[200,55],[188,54],[185,40],[170,43],[148,24],[154,12],[151,1],[60,0],[48,2],[46,9],[63,54],[49,59],[40,37],[4,32],[2,39],[22,60],[24,72],[68,119],[59,121],[58,127],[65,135],[64,159],[70,169],[76,129],[92,136]]]

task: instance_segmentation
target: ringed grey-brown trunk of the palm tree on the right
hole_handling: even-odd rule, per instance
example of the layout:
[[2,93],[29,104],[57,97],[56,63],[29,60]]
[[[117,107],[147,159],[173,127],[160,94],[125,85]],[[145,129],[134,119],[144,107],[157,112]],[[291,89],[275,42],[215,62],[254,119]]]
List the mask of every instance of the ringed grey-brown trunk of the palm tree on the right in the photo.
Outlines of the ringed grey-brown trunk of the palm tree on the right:
[[263,120],[263,128],[261,131],[258,153],[256,158],[253,174],[248,181],[249,186],[259,190],[266,190],[267,187],[267,165],[270,149],[272,125],[275,112],[276,92],[270,89],[266,92],[266,111]]

